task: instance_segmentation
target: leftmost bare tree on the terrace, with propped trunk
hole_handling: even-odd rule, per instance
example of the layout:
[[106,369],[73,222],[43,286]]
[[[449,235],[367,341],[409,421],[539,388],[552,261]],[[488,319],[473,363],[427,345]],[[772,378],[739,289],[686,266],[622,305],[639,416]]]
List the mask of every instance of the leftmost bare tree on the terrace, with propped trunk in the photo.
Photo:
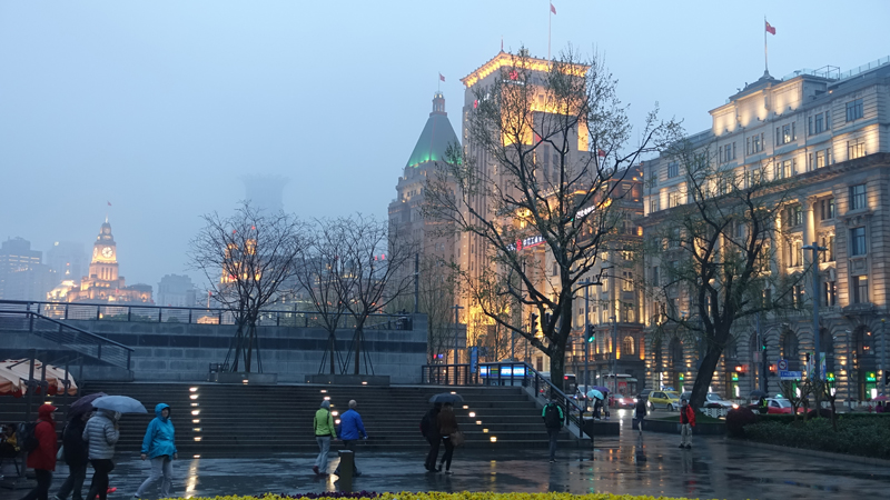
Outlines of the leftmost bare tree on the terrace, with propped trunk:
[[[241,202],[229,217],[201,216],[204,228],[191,240],[191,267],[204,273],[212,298],[235,318],[237,331],[226,354],[231,371],[263,371],[257,321],[294,277],[304,248],[303,223],[284,213]],[[229,363],[230,361],[230,363]]]

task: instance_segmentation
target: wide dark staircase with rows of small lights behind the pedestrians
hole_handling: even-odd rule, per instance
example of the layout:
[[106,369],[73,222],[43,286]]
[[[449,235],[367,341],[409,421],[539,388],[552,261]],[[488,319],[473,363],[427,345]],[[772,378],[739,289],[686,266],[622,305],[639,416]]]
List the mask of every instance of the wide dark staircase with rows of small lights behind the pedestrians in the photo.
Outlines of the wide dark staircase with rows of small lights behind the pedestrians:
[[[122,419],[120,451],[138,451],[155,404],[166,402],[172,408],[180,452],[235,456],[316,450],[312,422],[325,397],[330,398],[332,410],[338,413],[348,409],[350,399],[358,402],[357,410],[369,436],[365,446],[387,451],[425,448],[419,422],[429,408],[427,401],[435,393],[452,390],[464,398],[455,412],[467,438],[466,447],[546,448],[541,409],[518,387],[88,382],[83,393],[130,396],[149,410],[147,416],[128,414]],[[570,446],[575,439],[564,431],[562,441],[562,446]],[[334,444],[335,449],[338,447]]]

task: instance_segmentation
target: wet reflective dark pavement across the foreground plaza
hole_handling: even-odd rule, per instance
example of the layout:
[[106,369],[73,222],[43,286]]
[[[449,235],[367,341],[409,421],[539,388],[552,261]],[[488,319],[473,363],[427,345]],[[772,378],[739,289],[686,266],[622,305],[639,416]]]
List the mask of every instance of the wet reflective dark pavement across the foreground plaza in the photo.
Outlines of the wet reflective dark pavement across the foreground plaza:
[[[429,473],[417,452],[357,450],[362,477],[353,490],[367,491],[494,491],[572,493],[611,492],[723,499],[794,499],[831,496],[883,498],[890,490],[886,467],[814,459],[734,446],[723,438],[695,438],[691,450],[676,446],[679,436],[645,433],[640,438],[622,421],[622,438],[597,438],[595,448],[563,449],[556,463],[545,447],[496,454],[455,450],[454,474]],[[411,439],[414,439],[412,436]],[[330,464],[337,462],[336,453]],[[343,488],[336,476],[312,472],[314,453],[240,458],[189,458],[174,466],[175,496],[306,493]],[[138,457],[118,457],[109,500],[129,500],[147,477],[148,463]],[[6,466],[4,466],[6,470]],[[55,493],[67,469],[60,466],[50,490]],[[87,486],[89,486],[89,478]],[[0,489],[0,500],[23,497],[24,490]],[[154,497],[152,497],[154,498]]]

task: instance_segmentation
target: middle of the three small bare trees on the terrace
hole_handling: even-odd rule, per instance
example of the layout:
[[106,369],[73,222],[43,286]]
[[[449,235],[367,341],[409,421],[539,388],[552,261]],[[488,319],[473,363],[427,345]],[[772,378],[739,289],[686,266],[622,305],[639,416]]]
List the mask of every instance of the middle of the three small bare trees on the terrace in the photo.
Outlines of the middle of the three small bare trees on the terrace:
[[307,249],[298,259],[296,280],[313,306],[322,327],[328,332],[328,346],[319,366],[319,373],[328,361],[329,373],[335,374],[342,364],[337,351],[337,329],[348,314],[348,291],[343,289],[347,272],[340,256],[345,254],[347,239],[343,224],[329,220],[316,220],[308,237]]

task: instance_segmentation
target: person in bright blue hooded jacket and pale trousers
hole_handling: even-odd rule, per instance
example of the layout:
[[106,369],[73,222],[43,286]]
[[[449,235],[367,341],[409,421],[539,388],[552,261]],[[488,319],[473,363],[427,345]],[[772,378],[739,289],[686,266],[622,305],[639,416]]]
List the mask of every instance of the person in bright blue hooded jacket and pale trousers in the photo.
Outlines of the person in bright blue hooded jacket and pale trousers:
[[170,421],[170,406],[158,403],[155,407],[155,418],[148,424],[146,437],[142,439],[142,460],[151,460],[151,474],[136,490],[134,498],[142,498],[146,491],[164,478],[160,484],[160,498],[170,498],[172,483],[174,460],[178,458],[174,442],[174,422]]

